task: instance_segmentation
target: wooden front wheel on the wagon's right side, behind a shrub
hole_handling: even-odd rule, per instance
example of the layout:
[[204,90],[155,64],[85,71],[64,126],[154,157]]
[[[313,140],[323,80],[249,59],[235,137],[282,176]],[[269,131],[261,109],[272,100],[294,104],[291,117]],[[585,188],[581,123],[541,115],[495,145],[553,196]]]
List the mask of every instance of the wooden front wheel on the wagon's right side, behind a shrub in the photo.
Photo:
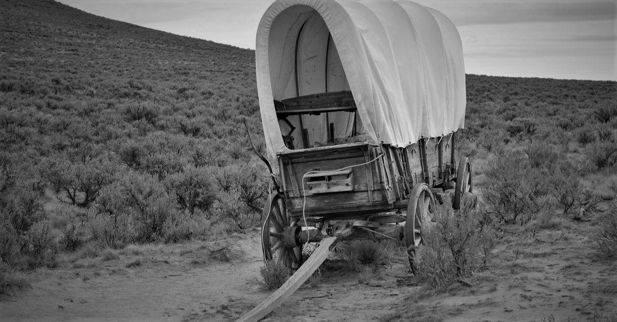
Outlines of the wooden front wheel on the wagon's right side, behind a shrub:
[[431,213],[435,210],[435,198],[433,192],[426,183],[418,183],[409,196],[407,205],[407,218],[405,222],[405,244],[409,255],[409,265],[412,273],[416,273],[416,265],[413,262],[416,247],[424,242],[426,225],[431,221]]

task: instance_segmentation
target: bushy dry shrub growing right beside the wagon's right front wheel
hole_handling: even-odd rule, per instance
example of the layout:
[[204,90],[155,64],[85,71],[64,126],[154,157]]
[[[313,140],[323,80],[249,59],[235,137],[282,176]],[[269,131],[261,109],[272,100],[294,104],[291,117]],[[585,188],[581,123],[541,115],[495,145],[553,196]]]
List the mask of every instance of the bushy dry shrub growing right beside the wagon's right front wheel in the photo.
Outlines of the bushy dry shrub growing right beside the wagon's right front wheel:
[[449,202],[438,205],[425,246],[416,250],[419,275],[436,289],[471,276],[490,256],[495,231],[484,221],[485,210],[472,205],[471,198],[463,199],[460,210]]

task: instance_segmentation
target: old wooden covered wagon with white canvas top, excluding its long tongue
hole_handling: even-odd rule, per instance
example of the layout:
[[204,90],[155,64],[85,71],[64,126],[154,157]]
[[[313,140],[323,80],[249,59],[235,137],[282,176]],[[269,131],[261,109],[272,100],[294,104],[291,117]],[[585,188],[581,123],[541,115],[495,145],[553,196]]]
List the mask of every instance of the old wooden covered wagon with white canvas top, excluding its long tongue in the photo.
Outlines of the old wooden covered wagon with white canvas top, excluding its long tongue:
[[[465,119],[460,36],[411,1],[278,0],[257,30],[257,88],[273,190],[267,260],[302,263],[327,236],[421,243],[435,192],[471,192],[455,160]],[[413,270],[413,260],[412,263]]]

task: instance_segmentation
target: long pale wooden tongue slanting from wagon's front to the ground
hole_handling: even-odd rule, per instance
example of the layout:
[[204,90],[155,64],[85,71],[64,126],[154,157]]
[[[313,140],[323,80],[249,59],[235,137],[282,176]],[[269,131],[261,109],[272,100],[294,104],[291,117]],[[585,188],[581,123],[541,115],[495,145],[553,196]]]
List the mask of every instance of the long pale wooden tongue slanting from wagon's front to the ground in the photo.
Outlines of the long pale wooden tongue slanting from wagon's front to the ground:
[[268,299],[236,320],[236,322],[257,322],[264,316],[268,315],[268,313],[272,312],[272,310],[279,307],[281,303],[288,299],[291,294],[296,292],[298,287],[302,286],[302,284],[310,278],[317,268],[319,268],[321,263],[328,258],[330,250],[333,249],[338,241],[339,237],[326,237],[321,239],[319,247],[317,247],[315,252],[310,255],[309,260],[300,266],[300,269],[297,270],[296,273],[294,273],[294,275],[292,275],[291,278],[283,284],[283,286],[279,287],[279,289],[277,289],[274,293],[270,294]]

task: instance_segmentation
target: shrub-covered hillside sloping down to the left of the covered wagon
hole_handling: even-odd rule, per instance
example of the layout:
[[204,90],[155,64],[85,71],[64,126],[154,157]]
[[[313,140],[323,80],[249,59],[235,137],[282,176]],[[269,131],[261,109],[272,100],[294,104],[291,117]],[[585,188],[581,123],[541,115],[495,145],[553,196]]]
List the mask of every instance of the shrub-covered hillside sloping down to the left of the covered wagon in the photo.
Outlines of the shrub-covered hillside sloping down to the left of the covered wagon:
[[[94,238],[111,238],[116,247],[164,235],[183,239],[194,233],[189,217],[207,221],[199,225],[204,231],[211,217],[222,216],[213,220],[222,231],[254,225],[267,192],[265,167],[247,152],[242,123],[246,118],[263,149],[254,51],[50,0],[2,0],[0,33],[7,236],[25,236],[40,220],[106,221],[118,211],[144,218],[118,236]],[[118,191],[143,199],[118,198]],[[24,246],[3,245],[2,258]]]

